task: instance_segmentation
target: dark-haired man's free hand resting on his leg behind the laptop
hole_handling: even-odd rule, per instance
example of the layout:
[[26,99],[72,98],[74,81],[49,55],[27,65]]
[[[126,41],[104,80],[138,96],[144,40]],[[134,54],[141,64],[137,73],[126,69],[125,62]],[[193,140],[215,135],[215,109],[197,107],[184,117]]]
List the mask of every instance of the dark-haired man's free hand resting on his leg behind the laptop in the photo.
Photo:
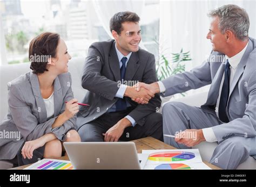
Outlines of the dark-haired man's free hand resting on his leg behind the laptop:
[[103,135],[105,136],[104,141],[118,141],[119,138],[124,133],[124,129],[131,125],[132,124],[129,121],[129,119],[127,118],[121,119],[120,121],[118,121],[116,125],[114,125],[109,130],[107,130],[105,134],[103,133]]

